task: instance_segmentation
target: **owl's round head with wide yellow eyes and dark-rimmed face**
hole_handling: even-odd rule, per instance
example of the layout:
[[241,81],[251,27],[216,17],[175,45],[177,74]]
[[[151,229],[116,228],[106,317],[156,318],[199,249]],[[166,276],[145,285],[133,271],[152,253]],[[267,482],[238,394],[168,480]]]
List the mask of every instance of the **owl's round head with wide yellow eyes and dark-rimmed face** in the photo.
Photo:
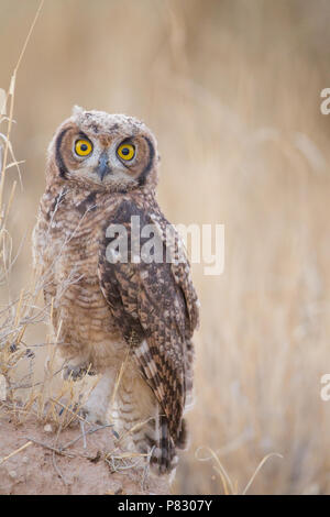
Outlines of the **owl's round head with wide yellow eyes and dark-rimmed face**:
[[155,186],[157,163],[156,140],[143,122],[79,107],[59,125],[48,148],[52,176],[98,190]]

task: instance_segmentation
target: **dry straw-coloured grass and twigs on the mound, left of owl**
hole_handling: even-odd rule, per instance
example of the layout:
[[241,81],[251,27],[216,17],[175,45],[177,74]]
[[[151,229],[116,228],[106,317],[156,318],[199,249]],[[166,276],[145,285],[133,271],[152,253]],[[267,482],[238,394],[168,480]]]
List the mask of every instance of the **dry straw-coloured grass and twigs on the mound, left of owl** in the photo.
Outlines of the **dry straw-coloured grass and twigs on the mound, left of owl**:
[[[14,262],[19,256],[16,255],[14,258],[12,257],[13,243],[7,229],[7,222],[10,218],[10,210],[14,199],[16,182],[12,183],[8,198],[3,196],[8,169],[15,166],[19,175],[21,174],[19,167],[20,163],[14,157],[13,146],[10,141],[13,124],[15,81],[20,64],[37,18],[42,11],[43,3],[44,1],[42,0],[38,9],[36,10],[35,18],[31,24],[20,57],[11,76],[10,88],[8,92],[0,89],[0,129],[2,129],[2,127],[7,129],[6,133],[0,133],[2,139],[2,143],[0,143],[0,282],[7,287],[8,292],[10,292],[10,278]],[[9,109],[7,108],[8,106]],[[9,111],[8,114],[7,109]],[[12,162],[9,163],[10,154],[12,155]],[[34,271],[31,272],[31,285],[22,288],[19,298],[14,300],[10,298],[7,304],[3,304],[3,308],[1,310],[0,416],[9,416],[10,421],[19,426],[31,420],[32,416],[35,417],[35,421],[38,424],[52,422],[51,429],[55,426],[55,429],[57,430],[54,446],[56,446],[61,432],[72,425],[76,425],[77,421],[80,422],[82,433],[78,435],[73,441],[59,449],[54,446],[46,446],[38,440],[31,438],[24,446],[10,452],[6,457],[0,458],[0,464],[22,452],[32,443],[36,443],[53,451],[54,468],[66,485],[67,483],[65,482],[65,477],[56,465],[55,453],[59,455],[67,454],[64,452],[65,449],[81,438],[86,443],[86,437],[88,435],[97,432],[106,427],[113,427],[113,424],[101,427],[91,426],[81,417],[80,408],[98,382],[98,378],[94,382],[88,378],[88,371],[79,382],[74,382],[69,377],[67,381],[58,383],[58,374],[64,370],[65,363],[62,362],[59,367],[58,364],[56,365],[56,336],[47,334],[44,343],[32,345],[37,348],[43,346],[47,350],[42,380],[35,382],[35,352],[33,352],[31,348],[28,348],[24,334],[26,329],[35,323],[43,322],[50,326],[52,320],[52,307],[40,307],[40,298],[42,298],[40,295],[42,295],[43,286],[47,282],[47,272],[41,276],[36,271]],[[118,383],[119,382],[120,378],[118,380]],[[116,389],[117,388],[118,385],[116,385]],[[136,428],[136,425],[134,428]],[[128,435],[130,435],[130,432],[125,432],[122,436],[113,432],[113,436],[116,436],[117,439],[113,439],[114,443],[112,446],[112,450],[109,450],[103,458],[103,460],[109,464],[112,473],[128,471],[135,466],[143,466],[143,458],[145,454],[138,454],[132,451],[124,450]],[[67,455],[70,457],[70,454]],[[144,468],[145,472],[142,479],[142,485],[144,484],[147,466],[148,465],[146,464]],[[1,488],[3,487],[1,486]],[[144,487],[142,486],[141,490],[144,490]]]

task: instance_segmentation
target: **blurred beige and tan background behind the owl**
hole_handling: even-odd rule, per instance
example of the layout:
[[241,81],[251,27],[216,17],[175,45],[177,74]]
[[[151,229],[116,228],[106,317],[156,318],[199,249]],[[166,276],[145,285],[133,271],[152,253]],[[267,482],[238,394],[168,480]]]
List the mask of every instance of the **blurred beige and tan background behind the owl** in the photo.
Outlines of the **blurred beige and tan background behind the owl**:
[[[0,0],[4,89],[36,8]],[[193,270],[201,327],[177,493],[226,492],[221,468],[242,493],[273,452],[249,493],[330,493],[329,24],[327,0],[47,0],[21,64],[20,253],[1,299],[31,276],[45,152],[73,105],[144,120],[167,218],[226,226],[223,274]],[[13,167],[8,189],[14,179]],[[46,332],[33,327],[29,343]]]

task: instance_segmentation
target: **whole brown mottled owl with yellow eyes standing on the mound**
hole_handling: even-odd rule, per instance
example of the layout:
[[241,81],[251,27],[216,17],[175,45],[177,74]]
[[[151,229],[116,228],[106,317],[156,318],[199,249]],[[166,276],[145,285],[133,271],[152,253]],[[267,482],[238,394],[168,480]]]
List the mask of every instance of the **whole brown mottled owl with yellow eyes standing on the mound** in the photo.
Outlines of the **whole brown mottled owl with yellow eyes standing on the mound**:
[[[131,447],[167,474],[187,441],[199,302],[184,245],[155,198],[158,161],[143,122],[75,107],[48,147],[33,255],[65,375],[100,375],[85,418],[102,424],[114,405]],[[150,243],[150,226],[157,246],[143,257],[136,244]]]

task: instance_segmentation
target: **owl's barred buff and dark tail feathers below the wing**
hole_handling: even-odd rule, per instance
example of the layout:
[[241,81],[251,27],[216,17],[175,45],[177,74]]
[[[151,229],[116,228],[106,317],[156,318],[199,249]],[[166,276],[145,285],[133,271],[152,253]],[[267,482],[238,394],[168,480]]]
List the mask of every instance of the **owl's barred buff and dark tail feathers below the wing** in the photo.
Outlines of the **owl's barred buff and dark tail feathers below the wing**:
[[124,432],[131,437],[134,449],[145,455],[156,474],[172,473],[177,465],[176,448],[169,436],[167,419],[143,378],[121,383],[118,391],[118,410]]

